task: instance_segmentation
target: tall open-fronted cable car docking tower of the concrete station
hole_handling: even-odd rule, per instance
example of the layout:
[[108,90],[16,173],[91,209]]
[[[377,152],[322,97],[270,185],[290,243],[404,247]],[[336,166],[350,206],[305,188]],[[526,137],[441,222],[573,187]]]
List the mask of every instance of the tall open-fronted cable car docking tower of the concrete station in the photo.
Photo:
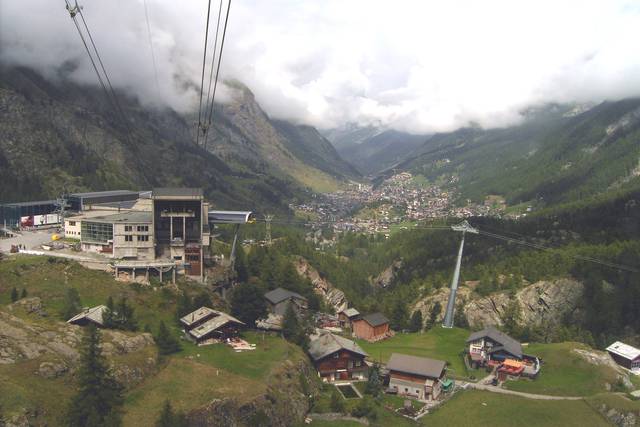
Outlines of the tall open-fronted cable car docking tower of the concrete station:
[[200,188],[155,188],[152,196],[155,256],[185,265],[185,274],[203,274],[210,244],[209,204]]

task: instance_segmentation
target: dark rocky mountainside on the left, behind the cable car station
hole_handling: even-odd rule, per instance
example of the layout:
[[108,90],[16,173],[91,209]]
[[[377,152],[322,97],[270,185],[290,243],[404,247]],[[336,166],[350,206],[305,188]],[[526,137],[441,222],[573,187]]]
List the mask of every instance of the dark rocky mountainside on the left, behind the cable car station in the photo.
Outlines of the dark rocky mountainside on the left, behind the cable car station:
[[171,109],[119,93],[128,132],[98,88],[0,67],[0,200],[182,185],[203,187],[216,206],[285,211],[309,188],[357,177],[335,152],[307,152],[318,139],[312,130],[289,125],[285,135],[247,88],[235,88],[232,102],[216,105],[205,151],[193,121]]

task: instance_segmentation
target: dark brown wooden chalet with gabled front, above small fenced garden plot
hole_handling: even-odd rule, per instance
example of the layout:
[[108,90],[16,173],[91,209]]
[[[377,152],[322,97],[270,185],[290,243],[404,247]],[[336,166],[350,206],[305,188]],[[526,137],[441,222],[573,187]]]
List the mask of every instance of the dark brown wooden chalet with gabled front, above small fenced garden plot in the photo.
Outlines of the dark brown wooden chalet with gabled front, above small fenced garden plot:
[[367,353],[355,342],[322,333],[309,345],[309,356],[325,382],[363,380],[369,367],[365,363]]

